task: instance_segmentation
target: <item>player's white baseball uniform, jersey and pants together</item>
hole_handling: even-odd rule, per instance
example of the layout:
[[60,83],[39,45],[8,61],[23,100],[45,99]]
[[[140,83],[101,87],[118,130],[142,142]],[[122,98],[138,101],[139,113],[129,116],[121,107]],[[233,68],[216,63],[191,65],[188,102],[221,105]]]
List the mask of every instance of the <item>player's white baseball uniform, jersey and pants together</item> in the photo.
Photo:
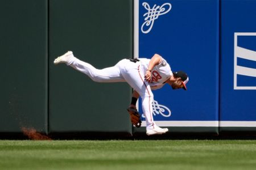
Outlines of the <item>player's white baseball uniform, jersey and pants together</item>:
[[72,57],[67,65],[88,75],[94,82],[127,82],[136,90],[142,99],[142,110],[146,117],[146,129],[154,128],[155,122],[152,116],[152,102],[154,95],[152,90],[163,87],[166,80],[172,76],[170,65],[161,58],[159,65],[151,71],[151,81],[144,79],[150,59],[139,58],[138,62],[122,59],[115,66],[105,69],[96,69],[89,63]]

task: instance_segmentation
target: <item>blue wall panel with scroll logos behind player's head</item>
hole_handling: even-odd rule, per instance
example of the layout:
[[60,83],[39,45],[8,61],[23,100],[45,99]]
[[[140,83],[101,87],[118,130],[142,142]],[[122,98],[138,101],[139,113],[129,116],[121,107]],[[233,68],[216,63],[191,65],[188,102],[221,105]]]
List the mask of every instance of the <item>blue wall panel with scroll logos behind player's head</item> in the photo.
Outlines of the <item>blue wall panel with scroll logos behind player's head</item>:
[[[168,84],[154,91],[158,104],[171,110],[170,117],[155,112],[155,121],[170,121],[170,126],[171,121],[214,121],[217,127],[219,1],[144,0],[138,6],[139,57],[158,53],[172,71],[184,70],[189,76],[187,91]],[[162,15],[155,12],[154,18],[157,8]]]

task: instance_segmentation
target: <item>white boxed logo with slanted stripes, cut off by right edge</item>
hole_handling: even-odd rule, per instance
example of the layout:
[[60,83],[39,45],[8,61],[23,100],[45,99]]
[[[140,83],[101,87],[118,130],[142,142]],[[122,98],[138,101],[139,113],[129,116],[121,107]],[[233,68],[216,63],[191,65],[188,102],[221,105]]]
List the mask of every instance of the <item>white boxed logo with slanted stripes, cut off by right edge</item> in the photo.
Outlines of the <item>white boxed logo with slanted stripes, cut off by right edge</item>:
[[256,36],[256,32],[235,32],[234,33],[234,90],[256,90],[255,86],[238,86],[237,75],[245,75],[256,78],[256,69],[239,66],[237,58],[247,59],[249,61],[256,61],[256,52],[250,49],[238,46],[238,36]]

